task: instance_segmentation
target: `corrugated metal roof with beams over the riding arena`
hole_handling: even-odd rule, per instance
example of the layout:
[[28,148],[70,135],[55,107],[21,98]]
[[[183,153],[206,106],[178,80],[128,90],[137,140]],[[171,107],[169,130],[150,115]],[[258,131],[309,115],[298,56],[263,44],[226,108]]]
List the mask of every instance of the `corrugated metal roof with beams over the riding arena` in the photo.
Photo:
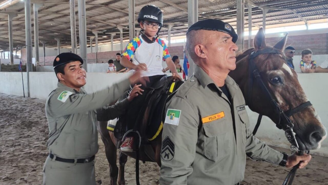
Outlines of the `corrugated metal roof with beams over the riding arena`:
[[[0,4],[4,0],[0,0]],[[41,1],[41,0],[39,0]],[[57,41],[61,40],[61,47],[70,47],[71,31],[70,31],[70,5],[69,0],[47,0],[41,1],[44,6],[39,9],[39,40],[45,41],[47,47],[56,47]],[[256,5],[252,10],[252,22],[257,26],[262,26],[263,7],[277,7],[295,10],[304,19],[311,21],[318,19],[322,22],[328,18],[328,0],[252,0]],[[247,3],[247,1],[246,1]],[[245,3],[245,4],[246,4]],[[187,0],[135,0],[135,12],[139,13],[140,9],[147,5],[154,4],[158,6],[164,14],[164,25],[161,29],[161,36],[166,36],[167,23],[175,23],[171,31],[174,36],[184,35],[188,29],[188,1]],[[75,3],[76,19],[77,2]],[[31,12],[33,6],[31,5]],[[302,21],[291,10],[269,10],[266,14],[266,25],[276,25]],[[1,14],[3,12],[18,12],[18,16],[13,18],[13,42],[14,47],[25,45],[25,14],[24,2],[17,2],[5,10],[0,11],[0,47],[8,49],[8,15]],[[92,37],[92,30],[98,31],[99,43],[110,42],[110,33],[118,32],[113,24],[123,26],[125,32],[123,37],[129,38],[129,7],[128,0],[87,0],[87,35]],[[236,1],[230,0],[199,0],[198,1],[199,19],[208,17],[221,19],[236,27]],[[220,18],[218,18],[218,16]],[[227,18],[222,18],[225,16]],[[231,17],[231,18],[229,18]],[[31,15],[33,27],[33,15]],[[248,27],[248,9],[245,6],[245,28]],[[77,33],[78,33],[78,21]],[[136,26],[138,27],[138,26]],[[268,28],[268,26],[267,26]],[[32,28],[33,29],[33,28]],[[78,34],[77,34],[78,35]],[[102,36],[108,36],[103,38]],[[114,37],[119,40],[119,34]],[[32,34],[32,42],[34,41]],[[88,42],[89,45],[89,42]]]

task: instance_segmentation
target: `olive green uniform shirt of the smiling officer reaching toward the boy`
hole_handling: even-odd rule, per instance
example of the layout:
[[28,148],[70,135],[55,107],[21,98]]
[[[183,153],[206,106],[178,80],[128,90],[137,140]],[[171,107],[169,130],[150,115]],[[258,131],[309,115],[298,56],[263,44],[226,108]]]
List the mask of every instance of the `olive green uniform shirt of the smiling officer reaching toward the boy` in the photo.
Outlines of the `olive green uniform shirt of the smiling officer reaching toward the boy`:
[[77,92],[58,82],[58,87],[50,93],[46,102],[49,152],[66,159],[95,155],[98,151],[95,110],[119,99],[129,87],[130,82],[126,79],[104,90],[87,94],[83,88]]

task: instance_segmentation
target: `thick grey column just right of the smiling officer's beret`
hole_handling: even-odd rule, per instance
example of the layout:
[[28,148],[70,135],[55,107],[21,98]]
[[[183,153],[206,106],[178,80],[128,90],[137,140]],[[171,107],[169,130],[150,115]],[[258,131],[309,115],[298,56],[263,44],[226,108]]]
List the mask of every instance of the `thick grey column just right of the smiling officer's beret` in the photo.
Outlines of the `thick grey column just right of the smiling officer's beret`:
[[78,0],[79,15],[79,40],[80,40],[80,56],[83,59],[83,67],[87,70],[87,14],[85,10],[85,0]]

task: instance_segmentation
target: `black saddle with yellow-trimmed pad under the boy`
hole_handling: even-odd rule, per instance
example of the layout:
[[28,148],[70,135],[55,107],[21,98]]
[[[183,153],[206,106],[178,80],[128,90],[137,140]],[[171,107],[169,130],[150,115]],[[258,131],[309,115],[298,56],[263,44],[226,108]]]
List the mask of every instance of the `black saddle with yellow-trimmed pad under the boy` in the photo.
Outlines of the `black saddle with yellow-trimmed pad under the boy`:
[[[154,162],[154,151],[150,147],[150,141],[156,139],[163,128],[162,112],[165,110],[166,99],[172,94],[183,81],[173,81],[172,76],[164,76],[158,82],[154,83],[151,90],[146,94],[146,98],[142,108],[139,110],[139,116],[136,121],[134,130],[138,130],[141,136],[140,153],[145,152],[148,159],[140,159],[143,161]],[[121,116],[115,126],[114,136],[117,141],[122,141],[126,134],[126,115]],[[117,143],[119,148],[120,143]],[[144,155],[140,155],[144,156]]]

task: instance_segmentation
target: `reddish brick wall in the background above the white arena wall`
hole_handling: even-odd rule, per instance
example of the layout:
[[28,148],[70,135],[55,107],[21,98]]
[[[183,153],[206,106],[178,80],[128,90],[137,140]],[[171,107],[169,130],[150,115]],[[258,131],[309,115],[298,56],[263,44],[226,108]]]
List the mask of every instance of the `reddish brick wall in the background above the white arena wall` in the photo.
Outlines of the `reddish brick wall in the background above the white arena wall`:
[[[266,38],[268,46],[274,46],[282,37]],[[252,47],[253,47],[253,40]],[[324,34],[311,34],[300,36],[289,36],[287,39],[287,46],[293,46],[296,50],[295,55],[300,55],[303,49],[310,48],[314,55],[328,54],[328,33]],[[248,40],[245,40],[245,49],[248,48]],[[174,55],[183,59],[183,46],[171,46],[168,47],[171,57]],[[106,63],[109,59],[115,59],[116,53],[120,51],[106,51],[98,52],[98,63]],[[46,57],[46,66],[51,66],[55,56]],[[88,63],[96,63],[96,54],[87,54]],[[40,57],[40,65],[43,66],[43,57]],[[26,48],[22,49],[22,63],[26,63]]]

